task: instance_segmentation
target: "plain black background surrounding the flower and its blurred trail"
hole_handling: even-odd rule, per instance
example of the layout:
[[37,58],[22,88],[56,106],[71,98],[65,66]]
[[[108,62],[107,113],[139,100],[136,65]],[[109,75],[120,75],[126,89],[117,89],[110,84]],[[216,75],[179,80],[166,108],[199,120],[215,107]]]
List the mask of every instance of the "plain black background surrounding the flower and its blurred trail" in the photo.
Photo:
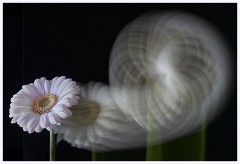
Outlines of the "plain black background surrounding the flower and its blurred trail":
[[[65,75],[108,84],[111,47],[130,21],[151,10],[201,16],[233,50],[233,91],[226,110],[207,129],[206,160],[237,160],[237,4],[3,4],[3,160],[48,160],[48,132],[29,135],[8,117],[10,99],[36,78]],[[132,151],[144,160],[145,149]],[[123,154],[125,152],[122,152]],[[129,153],[125,153],[125,157]],[[91,152],[57,146],[57,160],[91,160]]]

